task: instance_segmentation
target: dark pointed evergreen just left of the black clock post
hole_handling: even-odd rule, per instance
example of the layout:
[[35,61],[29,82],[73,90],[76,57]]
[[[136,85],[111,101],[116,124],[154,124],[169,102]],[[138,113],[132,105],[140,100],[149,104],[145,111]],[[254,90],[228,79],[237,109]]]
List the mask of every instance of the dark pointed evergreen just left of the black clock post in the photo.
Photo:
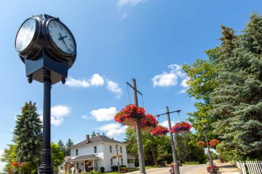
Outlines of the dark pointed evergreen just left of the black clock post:
[[26,102],[23,106],[21,115],[17,116],[13,133],[13,142],[17,144],[21,161],[29,162],[31,166],[39,166],[43,133],[35,102]]

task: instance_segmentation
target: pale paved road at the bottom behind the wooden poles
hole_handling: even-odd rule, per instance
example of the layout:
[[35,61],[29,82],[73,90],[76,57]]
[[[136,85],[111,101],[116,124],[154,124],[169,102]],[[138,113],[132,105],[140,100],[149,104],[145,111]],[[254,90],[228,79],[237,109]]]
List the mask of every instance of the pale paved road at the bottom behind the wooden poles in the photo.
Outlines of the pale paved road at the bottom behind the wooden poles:
[[[180,174],[199,174],[199,169],[204,168],[206,164],[200,164],[200,165],[183,165],[180,169]],[[146,171],[147,174],[169,174],[169,167],[165,168],[152,168]],[[138,174],[137,172],[127,173],[127,174]]]

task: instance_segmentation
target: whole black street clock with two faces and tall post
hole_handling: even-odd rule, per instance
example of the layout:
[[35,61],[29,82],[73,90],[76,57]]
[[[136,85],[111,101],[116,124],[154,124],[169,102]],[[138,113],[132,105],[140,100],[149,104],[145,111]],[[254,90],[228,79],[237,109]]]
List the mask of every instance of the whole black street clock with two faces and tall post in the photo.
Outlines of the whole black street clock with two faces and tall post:
[[[77,57],[77,45],[74,40],[74,36],[70,30],[61,23],[58,18],[39,14],[37,16],[27,19],[19,28],[15,41],[15,47],[19,52],[21,61],[26,65],[26,76],[28,82],[32,83],[32,80],[36,80],[43,83],[43,146],[41,150],[41,164],[37,168],[39,174],[52,174],[54,168],[51,160],[51,86],[55,83],[66,83],[68,76],[68,69],[72,67]],[[29,21],[29,22],[28,22]],[[65,34],[60,33],[61,29],[56,25],[54,30],[59,32],[60,38],[58,41],[66,45],[67,49],[62,49],[56,44],[56,41],[52,40],[50,30],[48,27],[53,24],[61,24],[64,29],[67,30]],[[29,28],[30,32],[24,32]],[[43,30],[41,30],[43,28]],[[49,38],[50,37],[50,38]],[[64,40],[67,38],[70,47],[74,50],[68,49],[68,45]],[[29,39],[29,40],[28,40]],[[29,42],[29,44],[28,44]]]

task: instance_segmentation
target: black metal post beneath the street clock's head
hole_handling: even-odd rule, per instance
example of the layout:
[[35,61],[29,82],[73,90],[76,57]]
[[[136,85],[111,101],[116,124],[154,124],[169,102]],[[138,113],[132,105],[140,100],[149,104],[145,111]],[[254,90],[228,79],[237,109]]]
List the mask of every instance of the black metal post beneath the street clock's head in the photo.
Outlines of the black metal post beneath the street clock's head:
[[50,70],[42,70],[43,74],[43,149],[41,151],[42,160],[38,168],[39,173],[54,173],[54,168],[51,163],[51,149],[50,149],[50,115],[51,115],[51,80]]

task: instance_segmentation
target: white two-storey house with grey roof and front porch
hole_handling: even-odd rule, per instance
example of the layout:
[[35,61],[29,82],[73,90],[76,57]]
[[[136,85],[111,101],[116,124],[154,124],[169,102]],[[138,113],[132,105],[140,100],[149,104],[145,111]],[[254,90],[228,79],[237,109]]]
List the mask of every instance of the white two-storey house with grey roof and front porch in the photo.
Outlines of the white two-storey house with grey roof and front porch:
[[70,147],[70,157],[65,158],[63,165],[59,166],[59,173],[100,171],[103,166],[105,172],[112,171],[111,166],[117,166],[117,153],[119,166],[134,167],[134,157],[126,153],[127,144],[107,138],[102,135],[86,138]]

